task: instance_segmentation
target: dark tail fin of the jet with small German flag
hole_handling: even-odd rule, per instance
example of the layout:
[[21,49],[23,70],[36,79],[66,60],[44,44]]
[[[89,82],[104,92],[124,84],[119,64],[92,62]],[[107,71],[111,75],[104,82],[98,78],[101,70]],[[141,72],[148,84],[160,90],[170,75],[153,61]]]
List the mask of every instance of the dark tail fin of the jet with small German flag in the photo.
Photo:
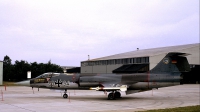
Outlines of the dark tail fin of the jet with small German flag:
[[188,72],[190,71],[190,65],[186,56],[186,53],[171,52],[168,53],[153,69],[151,73],[169,73],[169,72]]

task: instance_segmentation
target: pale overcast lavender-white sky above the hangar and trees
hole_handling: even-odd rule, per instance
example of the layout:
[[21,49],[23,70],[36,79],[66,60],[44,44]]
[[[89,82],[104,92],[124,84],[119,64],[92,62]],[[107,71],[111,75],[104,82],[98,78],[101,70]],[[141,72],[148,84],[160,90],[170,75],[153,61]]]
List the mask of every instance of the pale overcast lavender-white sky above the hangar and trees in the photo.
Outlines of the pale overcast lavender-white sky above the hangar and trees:
[[199,0],[0,0],[0,60],[80,66],[199,43]]

